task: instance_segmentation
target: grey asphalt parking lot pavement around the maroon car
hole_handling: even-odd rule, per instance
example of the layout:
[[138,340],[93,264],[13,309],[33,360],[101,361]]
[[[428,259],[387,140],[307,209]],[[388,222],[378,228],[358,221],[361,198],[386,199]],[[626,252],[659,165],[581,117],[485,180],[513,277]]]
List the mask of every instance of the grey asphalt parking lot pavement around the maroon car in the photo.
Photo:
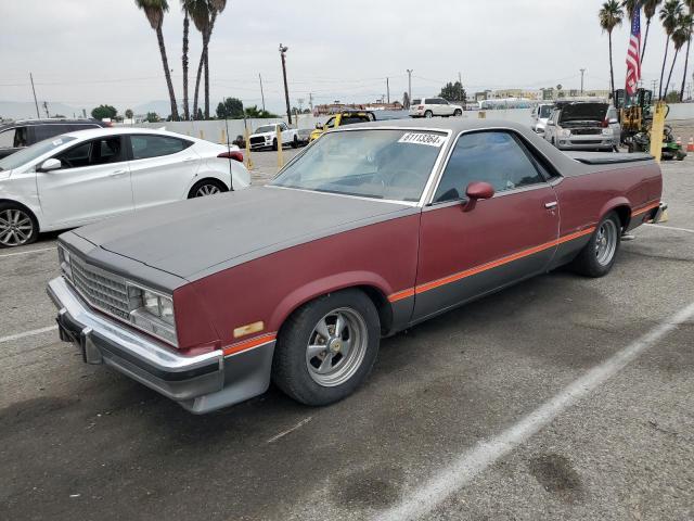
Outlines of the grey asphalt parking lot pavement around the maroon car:
[[669,223],[607,277],[384,340],[324,408],[271,389],[198,417],[87,366],[53,329],[55,236],[0,252],[0,519],[694,519],[694,157],[663,169]]

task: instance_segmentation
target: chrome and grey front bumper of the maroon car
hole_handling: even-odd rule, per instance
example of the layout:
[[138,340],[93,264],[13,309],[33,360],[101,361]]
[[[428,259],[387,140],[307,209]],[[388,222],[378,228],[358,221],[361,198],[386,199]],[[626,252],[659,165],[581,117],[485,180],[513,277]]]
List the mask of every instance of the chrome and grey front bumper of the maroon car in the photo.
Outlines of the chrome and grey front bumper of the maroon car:
[[48,294],[59,308],[61,340],[75,344],[85,363],[111,366],[192,412],[243,402],[269,385],[274,342],[229,357],[219,350],[184,356],[93,312],[62,277],[49,282]]

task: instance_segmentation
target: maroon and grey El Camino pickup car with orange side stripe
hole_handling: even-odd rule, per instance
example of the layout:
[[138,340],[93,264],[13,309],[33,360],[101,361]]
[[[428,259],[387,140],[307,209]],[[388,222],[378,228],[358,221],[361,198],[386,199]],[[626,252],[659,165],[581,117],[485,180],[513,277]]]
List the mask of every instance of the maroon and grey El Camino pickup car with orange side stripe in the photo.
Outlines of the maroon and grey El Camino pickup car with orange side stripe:
[[648,155],[566,155],[507,122],[350,126],[266,187],[62,234],[48,291],[86,363],[193,412],[270,380],[324,405],[384,335],[562,265],[604,276],[661,188]]

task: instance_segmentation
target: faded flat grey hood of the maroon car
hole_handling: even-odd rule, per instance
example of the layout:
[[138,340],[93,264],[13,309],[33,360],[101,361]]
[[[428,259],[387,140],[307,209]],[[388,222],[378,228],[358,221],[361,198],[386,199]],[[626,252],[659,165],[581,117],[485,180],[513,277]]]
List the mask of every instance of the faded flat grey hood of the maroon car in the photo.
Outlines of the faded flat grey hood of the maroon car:
[[74,231],[102,249],[184,279],[407,215],[410,205],[273,187],[197,198]]

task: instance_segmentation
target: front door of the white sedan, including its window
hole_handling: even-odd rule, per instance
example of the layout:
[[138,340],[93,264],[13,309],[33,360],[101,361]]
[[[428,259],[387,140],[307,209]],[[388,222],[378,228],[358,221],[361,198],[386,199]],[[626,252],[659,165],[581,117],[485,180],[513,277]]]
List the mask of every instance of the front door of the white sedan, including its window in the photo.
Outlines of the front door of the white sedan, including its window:
[[83,141],[54,156],[62,167],[37,171],[41,211],[51,226],[80,226],[133,211],[121,136]]

